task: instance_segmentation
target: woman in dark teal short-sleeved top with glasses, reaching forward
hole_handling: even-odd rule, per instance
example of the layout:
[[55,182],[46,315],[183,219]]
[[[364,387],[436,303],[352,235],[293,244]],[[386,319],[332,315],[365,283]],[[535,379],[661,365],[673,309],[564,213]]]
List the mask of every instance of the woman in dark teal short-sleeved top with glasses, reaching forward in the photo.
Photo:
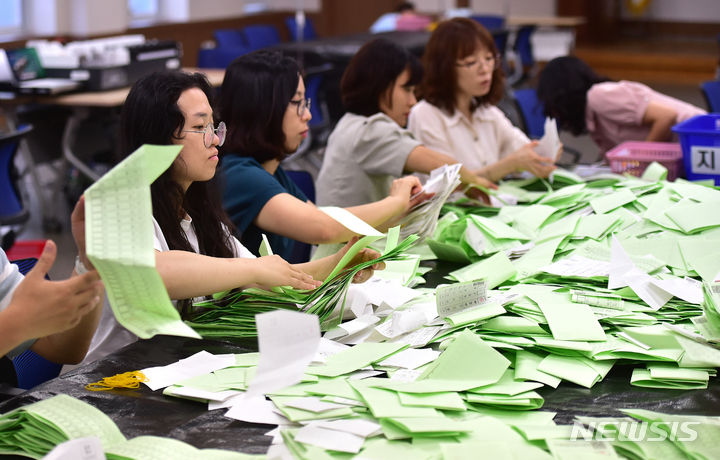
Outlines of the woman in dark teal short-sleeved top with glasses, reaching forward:
[[[295,152],[308,133],[310,100],[292,58],[257,51],[235,59],[225,71],[219,113],[228,125],[222,146],[223,204],[252,251],[264,233],[285,258],[295,240],[340,243],[355,234],[320,211],[287,176],[280,161]],[[377,201],[348,208],[373,227],[388,227],[424,195],[416,177],[398,179]],[[388,192],[390,193],[388,196]]]

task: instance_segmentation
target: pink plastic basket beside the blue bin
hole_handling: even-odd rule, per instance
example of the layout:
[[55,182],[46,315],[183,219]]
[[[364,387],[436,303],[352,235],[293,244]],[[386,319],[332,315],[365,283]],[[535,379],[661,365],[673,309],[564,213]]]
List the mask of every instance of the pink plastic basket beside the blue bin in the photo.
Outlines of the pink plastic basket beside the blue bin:
[[657,161],[668,170],[667,180],[683,175],[683,156],[680,144],[672,142],[623,142],[605,154],[614,173],[642,176],[645,168]]

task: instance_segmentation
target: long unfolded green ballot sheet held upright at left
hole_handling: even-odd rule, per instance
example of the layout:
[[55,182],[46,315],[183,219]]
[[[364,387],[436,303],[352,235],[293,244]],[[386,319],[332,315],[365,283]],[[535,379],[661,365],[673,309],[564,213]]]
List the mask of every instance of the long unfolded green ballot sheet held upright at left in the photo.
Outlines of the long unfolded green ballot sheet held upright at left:
[[143,339],[200,336],[182,322],[155,269],[150,184],[180,146],[144,145],[85,192],[86,245],[115,318]]

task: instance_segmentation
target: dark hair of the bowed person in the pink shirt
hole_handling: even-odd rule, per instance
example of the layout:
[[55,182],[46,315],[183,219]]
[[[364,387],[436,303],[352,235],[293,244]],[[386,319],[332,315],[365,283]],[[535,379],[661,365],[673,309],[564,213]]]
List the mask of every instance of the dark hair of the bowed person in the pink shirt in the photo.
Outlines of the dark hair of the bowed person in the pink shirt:
[[540,72],[537,95],[545,106],[545,116],[557,120],[559,129],[574,135],[587,131],[585,108],[592,85],[609,81],[575,56],[563,56],[548,62]]

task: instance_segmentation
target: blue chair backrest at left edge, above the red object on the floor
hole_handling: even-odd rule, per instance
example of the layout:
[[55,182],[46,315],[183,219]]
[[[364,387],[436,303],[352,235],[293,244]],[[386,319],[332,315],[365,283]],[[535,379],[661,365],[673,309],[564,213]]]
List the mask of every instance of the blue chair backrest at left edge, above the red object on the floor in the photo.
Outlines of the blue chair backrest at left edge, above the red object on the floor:
[[15,225],[29,218],[17,188],[15,154],[20,140],[32,131],[32,126],[23,126],[17,131],[0,134],[0,225]]

